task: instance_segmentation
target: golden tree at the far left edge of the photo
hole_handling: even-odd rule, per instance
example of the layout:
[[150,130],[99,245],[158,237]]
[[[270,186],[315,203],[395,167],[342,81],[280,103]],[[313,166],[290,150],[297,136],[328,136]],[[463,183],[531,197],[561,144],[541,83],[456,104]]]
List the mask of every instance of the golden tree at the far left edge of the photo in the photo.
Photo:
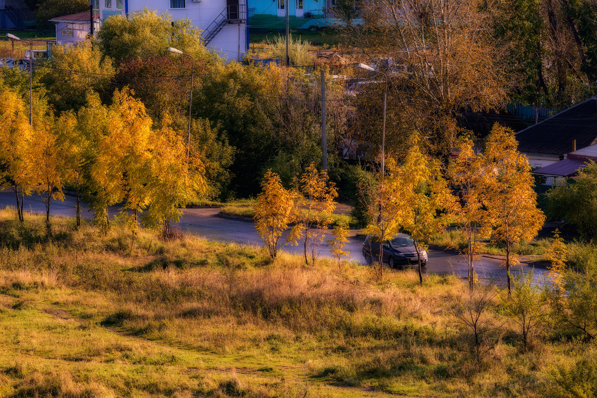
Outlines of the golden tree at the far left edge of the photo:
[[32,130],[19,94],[0,87],[0,103],[0,186],[13,189],[17,215],[23,221],[24,196],[30,195],[33,185],[26,167]]

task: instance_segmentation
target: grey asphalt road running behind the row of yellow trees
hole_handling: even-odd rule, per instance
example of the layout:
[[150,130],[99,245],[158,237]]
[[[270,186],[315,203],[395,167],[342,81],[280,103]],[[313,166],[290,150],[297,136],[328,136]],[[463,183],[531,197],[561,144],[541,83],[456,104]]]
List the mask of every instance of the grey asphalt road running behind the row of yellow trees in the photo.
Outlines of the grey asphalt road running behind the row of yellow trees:
[[[16,198],[14,192],[10,190],[0,191],[0,209],[6,206],[16,206]],[[45,214],[45,205],[41,198],[36,195],[25,198],[23,210],[32,213]],[[118,208],[112,208],[110,213],[116,214]],[[84,219],[92,219],[93,213],[88,212],[87,207],[83,204],[82,217]],[[199,235],[208,240],[221,241],[226,243],[250,244],[256,246],[263,246],[263,241],[257,235],[257,231],[252,222],[220,218],[217,214],[219,209],[186,209],[180,220],[180,228],[183,231]],[[50,215],[74,217],[76,214],[76,198],[71,195],[66,195],[64,202],[53,201],[51,204]],[[349,250],[351,258],[361,264],[364,264],[364,258],[361,254],[361,245],[363,238],[355,236],[356,231],[352,231],[349,236],[349,243],[346,244],[346,249]],[[282,250],[291,253],[302,253],[301,246],[284,246]],[[323,246],[321,249],[321,256],[331,257],[331,253],[327,247]],[[479,277],[485,280],[494,280],[498,284],[504,284],[506,281],[506,270],[501,267],[501,260],[490,256],[479,256],[479,261],[475,264],[475,270]],[[522,263],[513,270],[530,270],[527,264]],[[427,267],[424,268],[425,273],[434,274],[454,274],[459,278],[466,278],[467,265],[457,253],[429,249],[429,260]],[[544,270],[536,270],[536,279],[540,278]]]

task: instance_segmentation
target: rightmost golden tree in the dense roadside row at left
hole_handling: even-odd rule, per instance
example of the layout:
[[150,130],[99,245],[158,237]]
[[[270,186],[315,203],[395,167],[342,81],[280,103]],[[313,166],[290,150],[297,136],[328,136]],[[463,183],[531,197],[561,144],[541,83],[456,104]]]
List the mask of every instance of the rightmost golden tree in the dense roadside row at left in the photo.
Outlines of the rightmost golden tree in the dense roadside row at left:
[[172,235],[171,224],[180,219],[180,208],[205,193],[205,167],[195,152],[187,157],[184,133],[174,130],[168,115],[162,118],[152,140],[151,178],[146,186],[149,206],[141,219],[159,226],[167,239]]

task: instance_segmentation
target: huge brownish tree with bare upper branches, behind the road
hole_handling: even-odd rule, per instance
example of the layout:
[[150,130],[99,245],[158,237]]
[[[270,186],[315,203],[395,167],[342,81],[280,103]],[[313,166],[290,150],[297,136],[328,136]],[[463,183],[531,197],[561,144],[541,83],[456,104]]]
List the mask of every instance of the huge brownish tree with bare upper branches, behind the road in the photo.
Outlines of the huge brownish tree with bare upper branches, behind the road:
[[457,116],[500,109],[506,100],[501,49],[488,29],[496,10],[479,0],[362,1],[359,7],[362,22],[344,20],[341,31],[361,59],[386,74],[388,120],[404,138],[413,131],[429,137],[427,151],[447,160]]

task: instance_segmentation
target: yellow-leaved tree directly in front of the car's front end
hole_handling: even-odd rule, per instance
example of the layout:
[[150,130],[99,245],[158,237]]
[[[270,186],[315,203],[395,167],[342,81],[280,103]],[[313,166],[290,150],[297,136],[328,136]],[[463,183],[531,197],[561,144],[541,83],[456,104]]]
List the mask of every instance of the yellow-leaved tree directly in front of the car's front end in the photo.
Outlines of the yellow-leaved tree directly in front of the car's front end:
[[417,250],[419,283],[423,284],[421,252],[427,249],[424,242],[444,228],[447,219],[441,212],[452,210],[455,198],[442,175],[439,161],[421,152],[416,136],[399,169],[398,179],[403,213],[400,226],[413,238]]

